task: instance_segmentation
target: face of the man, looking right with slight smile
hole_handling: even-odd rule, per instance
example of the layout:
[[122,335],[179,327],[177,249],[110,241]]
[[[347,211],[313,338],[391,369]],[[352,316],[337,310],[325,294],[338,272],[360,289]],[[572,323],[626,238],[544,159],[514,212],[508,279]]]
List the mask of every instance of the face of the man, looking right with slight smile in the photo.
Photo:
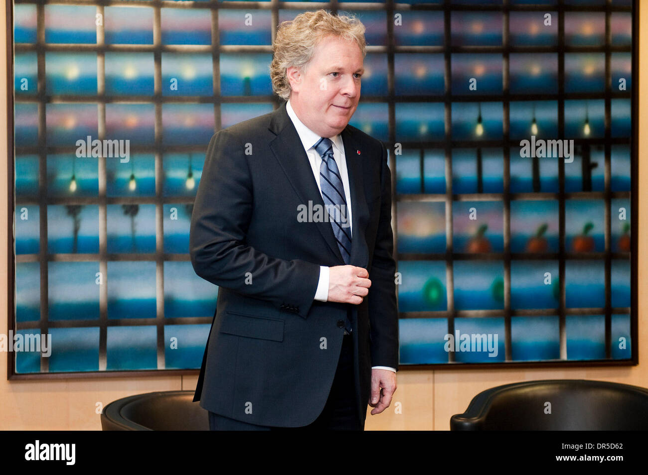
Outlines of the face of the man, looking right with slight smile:
[[305,126],[321,137],[332,137],[347,126],[358,107],[363,72],[358,43],[326,36],[304,71],[287,69],[290,105]]

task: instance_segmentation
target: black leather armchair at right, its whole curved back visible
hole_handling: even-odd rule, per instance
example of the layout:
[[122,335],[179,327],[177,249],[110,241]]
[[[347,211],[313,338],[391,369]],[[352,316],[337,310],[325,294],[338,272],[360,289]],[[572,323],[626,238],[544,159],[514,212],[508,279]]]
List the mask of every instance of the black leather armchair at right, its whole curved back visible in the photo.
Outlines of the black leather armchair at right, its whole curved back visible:
[[648,430],[648,389],[586,379],[505,384],[473,397],[450,430]]

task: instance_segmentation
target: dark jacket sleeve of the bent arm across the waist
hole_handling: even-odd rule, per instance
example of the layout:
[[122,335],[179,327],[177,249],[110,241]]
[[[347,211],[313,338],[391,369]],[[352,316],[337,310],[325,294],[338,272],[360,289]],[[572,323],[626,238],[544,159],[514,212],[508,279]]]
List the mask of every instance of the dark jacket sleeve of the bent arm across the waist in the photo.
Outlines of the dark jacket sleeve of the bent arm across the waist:
[[[306,318],[319,281],[319,265],[268,256],[246,243],[253,187],[244,146],[222,129],[209,141],[189,232],[194,271],[240,294],[268,300]],[[268,199],[268,197],[261,197]],[[246,273],[253,284],[246,283]]]

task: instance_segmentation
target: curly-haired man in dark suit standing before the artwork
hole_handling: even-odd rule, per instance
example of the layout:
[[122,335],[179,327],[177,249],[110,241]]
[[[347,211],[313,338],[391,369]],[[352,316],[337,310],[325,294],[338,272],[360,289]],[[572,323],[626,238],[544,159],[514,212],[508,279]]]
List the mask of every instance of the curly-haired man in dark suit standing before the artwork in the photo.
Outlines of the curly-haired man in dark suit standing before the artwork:
[[396,390],[387,149],[348,125],[364,56],[354,18],[282,24],[270,69],[288,102],[209,142],[190,253],[219,286],[194,396],[212,429],[363,430]]

